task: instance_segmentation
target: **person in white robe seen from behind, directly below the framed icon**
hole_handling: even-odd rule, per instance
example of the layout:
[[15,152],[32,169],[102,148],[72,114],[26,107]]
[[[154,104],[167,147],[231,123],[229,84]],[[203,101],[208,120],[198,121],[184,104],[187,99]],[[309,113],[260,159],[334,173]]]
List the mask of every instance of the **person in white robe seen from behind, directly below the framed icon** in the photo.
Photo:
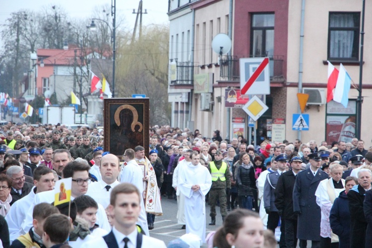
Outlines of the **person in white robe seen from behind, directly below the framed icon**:
[[[139,192],[143,193],[143,172],[137,162],[134,160],[134,150],[126,149],[123,158],[126,162],[126,165],[120,172],[120,183],[132,184],[138,188]],[[138,217],[137,224],[141,226],[146,235],[149,235],[147,226],[147,214],[145,211],[143,197],[141,197],[141,213]]]

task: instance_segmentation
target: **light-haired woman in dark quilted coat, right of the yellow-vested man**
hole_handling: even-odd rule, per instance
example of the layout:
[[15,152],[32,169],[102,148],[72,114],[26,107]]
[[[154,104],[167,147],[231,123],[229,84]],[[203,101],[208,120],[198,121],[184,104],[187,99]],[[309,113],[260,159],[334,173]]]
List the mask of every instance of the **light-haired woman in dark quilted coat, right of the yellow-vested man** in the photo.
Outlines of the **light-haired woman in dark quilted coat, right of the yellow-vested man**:
[[247,152],[242,152],[235,164],[235,175],[238,185],[239,207],[252,210],[253,191],[256,190],[254,168]]

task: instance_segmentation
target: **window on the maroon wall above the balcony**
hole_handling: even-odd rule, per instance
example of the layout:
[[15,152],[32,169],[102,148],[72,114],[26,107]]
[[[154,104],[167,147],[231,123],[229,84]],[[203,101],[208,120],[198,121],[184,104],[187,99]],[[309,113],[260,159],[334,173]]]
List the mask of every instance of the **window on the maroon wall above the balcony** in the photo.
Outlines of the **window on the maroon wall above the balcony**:
[[252,57],[274,55],[274,14],[252,14],[250,29],[250,54]]

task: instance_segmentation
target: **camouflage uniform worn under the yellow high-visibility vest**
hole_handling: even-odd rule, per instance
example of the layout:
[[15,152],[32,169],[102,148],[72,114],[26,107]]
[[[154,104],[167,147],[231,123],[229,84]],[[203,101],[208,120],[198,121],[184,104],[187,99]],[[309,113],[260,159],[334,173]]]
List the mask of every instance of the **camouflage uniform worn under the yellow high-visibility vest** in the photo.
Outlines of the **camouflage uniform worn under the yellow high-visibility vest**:
[[[222,160],[220,161],[213,161],[216,168],[219,170],[222,166]],[[212,163],[212,162],[211,162]],[[209,173],[211,173],[210,164],[208,164],[207,168]],[[222,217],[225,217],[227,215],[227,209],[226,209],[226,188],[231,188],[231,181],[230,181],[230,170],[228,165],[226,165],[226,171],[225,171],[225,179],[226,181],[221,181],[220,178],[217,179],[217,181],[212,181],[212,186],[209,190],[209,198],[208,202],[210,204],[210,214],[209,216],[212,218],[215,218],[216,216],[216,203],[217,199],[220,201],[220,208],[221,208],[221,215]]]

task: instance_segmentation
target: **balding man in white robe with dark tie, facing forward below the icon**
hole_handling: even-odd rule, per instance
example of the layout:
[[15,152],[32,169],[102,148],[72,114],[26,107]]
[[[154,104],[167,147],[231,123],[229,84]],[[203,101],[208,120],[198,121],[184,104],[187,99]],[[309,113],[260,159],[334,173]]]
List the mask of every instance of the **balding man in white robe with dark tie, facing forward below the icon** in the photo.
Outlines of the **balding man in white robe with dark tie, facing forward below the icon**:
[[97,165],[100,169],[101,180],[91,183],[86,194],[107,209],[110,205],[111,190],[120,184],[117,180],[119,175],[119,158],[113,154],[107,154],[102,157],[99,163]]

